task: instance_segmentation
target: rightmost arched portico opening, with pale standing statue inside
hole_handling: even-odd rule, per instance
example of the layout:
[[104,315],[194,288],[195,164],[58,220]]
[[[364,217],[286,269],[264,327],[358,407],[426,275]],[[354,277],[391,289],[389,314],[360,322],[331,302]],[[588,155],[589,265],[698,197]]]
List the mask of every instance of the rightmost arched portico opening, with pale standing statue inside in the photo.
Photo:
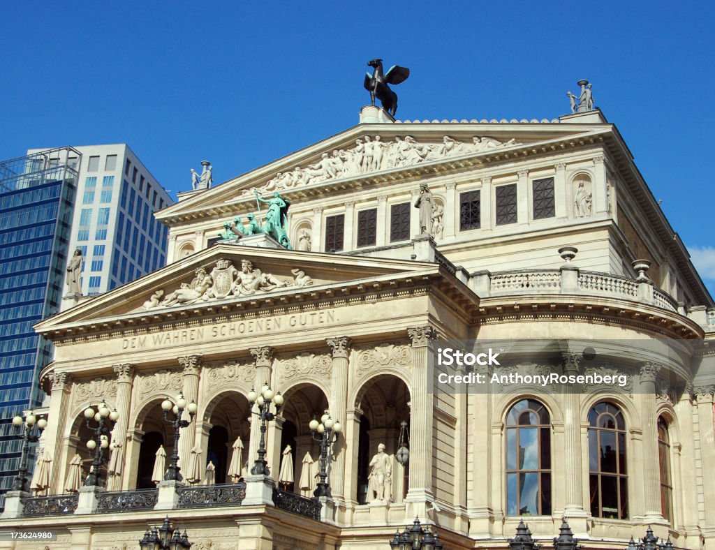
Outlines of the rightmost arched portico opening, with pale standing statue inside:
[[[410,463],[398,463],[400,424],[410,430],[410,392],[405,382],[392,374],[383,374],[365,382],[356,406],[363,411],[358,441],[358,476],[355,499],[360,504],[371,501],[400,503],[407,496]],[[382,446],[384,449],[381,449]],[[386,455],[386,457],[385,457]],[[389,474],[389,475],[388,475]]]

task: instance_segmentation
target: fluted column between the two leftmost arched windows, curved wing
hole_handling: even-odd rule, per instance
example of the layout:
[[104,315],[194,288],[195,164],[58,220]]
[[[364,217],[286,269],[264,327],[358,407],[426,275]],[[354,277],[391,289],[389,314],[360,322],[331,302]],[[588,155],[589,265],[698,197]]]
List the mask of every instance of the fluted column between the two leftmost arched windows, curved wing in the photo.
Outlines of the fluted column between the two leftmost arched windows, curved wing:
[[[582,354],[564,353],[563,374],[576,376]],[[568,519],[586,517],[583,510],[583,469],[581,465],[581,398],[578,384],[563,385],[563,481],[564,510]],[[558,479],[554,477],[553,479]],[[573,528],[573,527],[572,527]],[[586,525],[583,525],[585,532]],[[581,531],[581,530],[579,530]]]

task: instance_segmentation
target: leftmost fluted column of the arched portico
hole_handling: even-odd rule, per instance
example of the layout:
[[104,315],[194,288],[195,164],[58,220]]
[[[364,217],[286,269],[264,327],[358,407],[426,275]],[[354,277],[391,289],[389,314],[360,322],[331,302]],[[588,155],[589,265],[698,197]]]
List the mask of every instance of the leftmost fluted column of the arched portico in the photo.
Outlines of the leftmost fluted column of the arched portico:
[[[64,480],[66,478],[64,465],[68,449],[62,444],[62,435],[65,431],[65,422],[69,411],[69,395],[71,389],[71,376],[66,372],[52,372],[49,374],[51,381],[51,398],[47,413],[47,427],[44,431],[45,451],[53,456],[50,462],[50,488],[49,494],[64,493]],[[84,443],[83,443],[84,444]]]

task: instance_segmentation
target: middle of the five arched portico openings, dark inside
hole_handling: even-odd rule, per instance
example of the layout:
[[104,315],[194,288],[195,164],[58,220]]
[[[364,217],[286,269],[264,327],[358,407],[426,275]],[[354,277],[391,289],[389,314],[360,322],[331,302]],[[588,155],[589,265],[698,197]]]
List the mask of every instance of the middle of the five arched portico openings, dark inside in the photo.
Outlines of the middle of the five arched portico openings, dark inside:
[[[204,466],[209,461],[214,464],[216,483],[234,483],[238,481],[238,476],[232,474],[244,471],[248,461],[248,400],[238,391],[226,391],[212,399],[206,411],[204,421],[210,428],[202,441],[202,449],[206,449]],[[234,453],[241,456],[236,458],[237,471],[232,472],[230,466]]]

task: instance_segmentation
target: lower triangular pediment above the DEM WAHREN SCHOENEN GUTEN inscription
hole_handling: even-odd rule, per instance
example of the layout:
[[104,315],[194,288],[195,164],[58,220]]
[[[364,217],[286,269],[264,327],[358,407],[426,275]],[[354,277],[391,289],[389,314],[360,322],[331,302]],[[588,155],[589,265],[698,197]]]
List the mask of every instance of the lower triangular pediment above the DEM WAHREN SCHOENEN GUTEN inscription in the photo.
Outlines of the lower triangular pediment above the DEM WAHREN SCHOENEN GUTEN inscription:
[[[121,326],[153,316],[243,301],[289,303],[301,294],[345,284],[390,284],[398,276],[436,272],[436,264],[364,256],[217,244],[36,324],[42,333],[77,326]],[[370,282],[372,281],[372,282]]]

